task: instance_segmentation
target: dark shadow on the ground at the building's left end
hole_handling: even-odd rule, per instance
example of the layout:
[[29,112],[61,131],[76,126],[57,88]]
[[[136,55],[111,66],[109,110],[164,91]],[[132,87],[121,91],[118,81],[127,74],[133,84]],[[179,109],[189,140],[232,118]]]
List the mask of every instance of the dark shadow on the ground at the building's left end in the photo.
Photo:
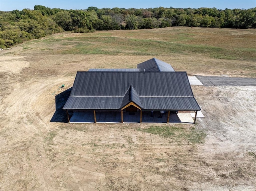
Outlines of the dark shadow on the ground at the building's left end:
[[62,108],[67,102],[71,90],[72,87],[55,96],[55,112],[50,122],[68,122],[66,111],[62,110]]

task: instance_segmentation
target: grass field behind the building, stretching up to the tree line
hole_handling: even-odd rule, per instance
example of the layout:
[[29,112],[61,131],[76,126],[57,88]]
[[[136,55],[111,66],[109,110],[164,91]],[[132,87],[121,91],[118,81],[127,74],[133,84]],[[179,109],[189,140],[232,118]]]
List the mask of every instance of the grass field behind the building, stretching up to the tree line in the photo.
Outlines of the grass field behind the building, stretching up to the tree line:
[[[157,57],[177,71],[256,77],[255,34],[254,29],[173,27],[57,34],[24,43],[22,47],[23,51],[37,55],[39,51],[46,55],[146,57],[140,61]],[[118,66],[108,63],[97,67]]]

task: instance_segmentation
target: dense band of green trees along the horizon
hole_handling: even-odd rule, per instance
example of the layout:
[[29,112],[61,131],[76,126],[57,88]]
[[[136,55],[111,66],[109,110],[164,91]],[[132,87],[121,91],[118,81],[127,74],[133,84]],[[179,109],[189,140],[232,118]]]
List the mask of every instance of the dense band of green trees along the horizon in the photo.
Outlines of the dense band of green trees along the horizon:
[[63,31],[135,30],[170,26],[256,28],[256,8],[102,8],[62,10],[41,5],[34,10],[0,12],[0,48]]

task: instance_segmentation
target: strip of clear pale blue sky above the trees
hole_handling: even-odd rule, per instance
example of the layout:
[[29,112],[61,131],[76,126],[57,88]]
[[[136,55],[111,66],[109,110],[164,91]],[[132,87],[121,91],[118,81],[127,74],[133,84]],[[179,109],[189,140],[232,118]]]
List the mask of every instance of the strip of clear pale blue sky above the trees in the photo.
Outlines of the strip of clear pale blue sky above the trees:
[[34,9],[34,5],[49,8],[84,10],[90,6],[97,8],[217,8],[249,9],[256,7],[256,0],[0,0],[0,11]]

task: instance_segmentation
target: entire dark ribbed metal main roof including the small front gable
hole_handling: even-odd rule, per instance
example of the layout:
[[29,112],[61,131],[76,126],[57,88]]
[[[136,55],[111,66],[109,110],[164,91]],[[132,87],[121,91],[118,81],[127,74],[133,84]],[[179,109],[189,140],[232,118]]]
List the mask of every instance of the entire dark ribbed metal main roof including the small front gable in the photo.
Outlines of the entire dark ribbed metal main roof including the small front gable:
[[186,72],[77,72],[63,109],[200,110]]

